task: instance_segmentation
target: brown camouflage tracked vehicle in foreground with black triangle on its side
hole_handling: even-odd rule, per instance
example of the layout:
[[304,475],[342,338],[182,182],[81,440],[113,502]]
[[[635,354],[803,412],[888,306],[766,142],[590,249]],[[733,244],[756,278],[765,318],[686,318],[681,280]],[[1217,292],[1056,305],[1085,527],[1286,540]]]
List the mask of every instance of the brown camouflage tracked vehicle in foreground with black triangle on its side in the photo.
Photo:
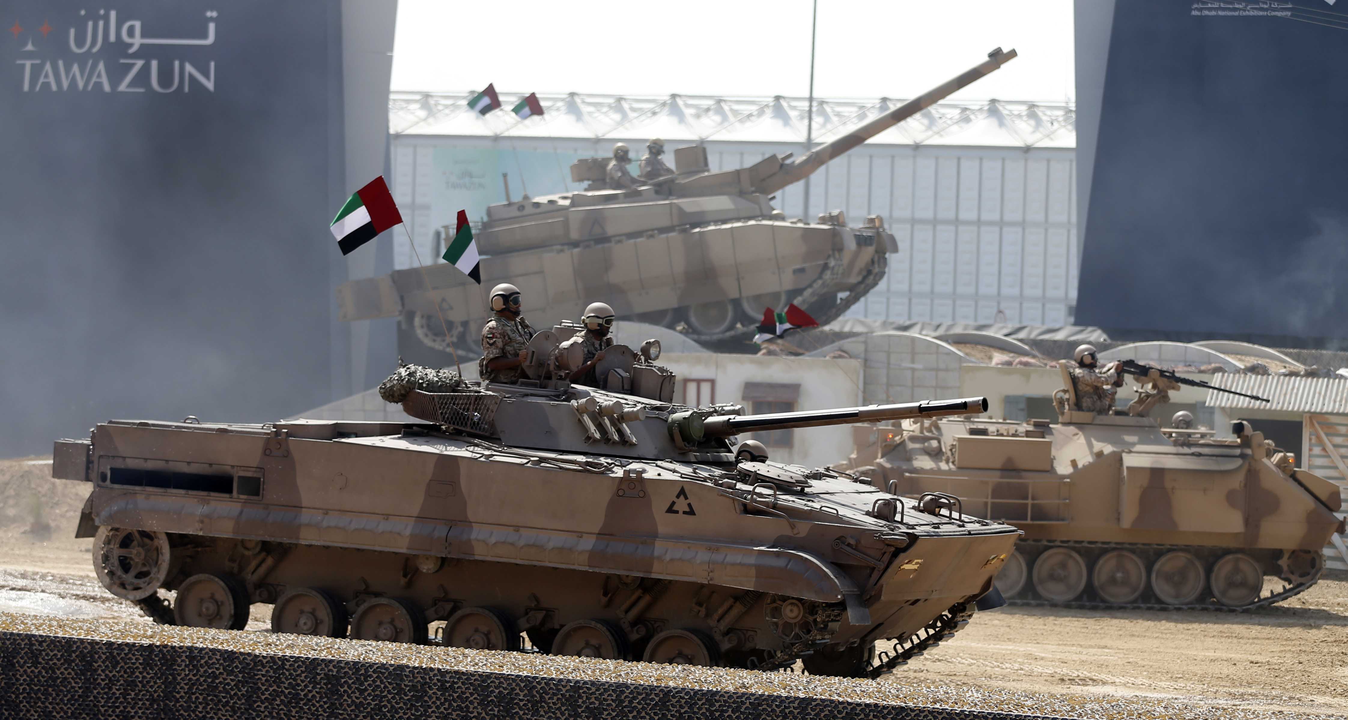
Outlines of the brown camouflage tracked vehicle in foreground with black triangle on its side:
[[425,423],[112,420],[53,475],[93,484],[104,587],[166,623],[272,603],[280,633],[876,677],[998,603],[1014,528],[733,441],[985,398],[741,416],[671,404],[654,342],[570,385],[558,340],[519,385],[400,367],[381,394]]

